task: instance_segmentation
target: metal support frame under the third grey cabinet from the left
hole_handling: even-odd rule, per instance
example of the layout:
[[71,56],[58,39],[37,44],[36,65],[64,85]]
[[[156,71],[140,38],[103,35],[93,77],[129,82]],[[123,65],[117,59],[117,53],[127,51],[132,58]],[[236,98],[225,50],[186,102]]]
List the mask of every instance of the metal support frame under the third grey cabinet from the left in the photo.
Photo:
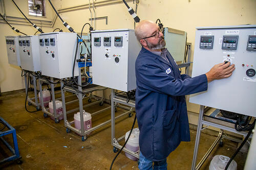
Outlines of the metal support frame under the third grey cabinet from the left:
[[[58,80],[59,80],[59,79],[56,80],[56,79],[50,77],[50,82],[53,82],[53,83],[50,83],[50,82],[46,81],[45,79],[42,79],[42,78],[39,79],[39,90],[40,90],[40,98],[41,98],[40,100],[41,100],[41,101],[43,101],[43,96],[42,96],[42,83],[47,83],[47,84],[49,84],[49,85],[51,86],[51,96],[52,96],[52,104],[53,104],[53,113],[51,113],[51,112],[49,111],[49,108],[46,108],[46,107],[44,106],[44,102],[41,102],[41,108],[42,108],[42,112],[44,113],[44,116],[46,117],[46,116],[49,115],[49,116],[53,117],[54,120],[55,120],[55,123],[58,123],[58,122],[59,122],[59,117],[63,116],[62,114],[57,115],[57,112],[56,112],[56,103],[55,103],[55,101],[56,101],[56,100],[61,100],[61,97],[55,99],[55,94],[61,93],[61,91],[55,91],[55,90],[54,90],[54,87],[55,87],[56,85],[58,85],[58,84],[56,83],[56,82],[58,82]],[[67,97],[70,97],[70,96],[74,96],[74,95],[75,95],[75,94],[68,95],[68,96],[66,96],[66,98],[67,98]],[[71,101],[71,102],[68,102],[67,104],[71,104],[71,103],[74,103],[74,102],[76,102],[76,101],[77,101],[77,100]]]

